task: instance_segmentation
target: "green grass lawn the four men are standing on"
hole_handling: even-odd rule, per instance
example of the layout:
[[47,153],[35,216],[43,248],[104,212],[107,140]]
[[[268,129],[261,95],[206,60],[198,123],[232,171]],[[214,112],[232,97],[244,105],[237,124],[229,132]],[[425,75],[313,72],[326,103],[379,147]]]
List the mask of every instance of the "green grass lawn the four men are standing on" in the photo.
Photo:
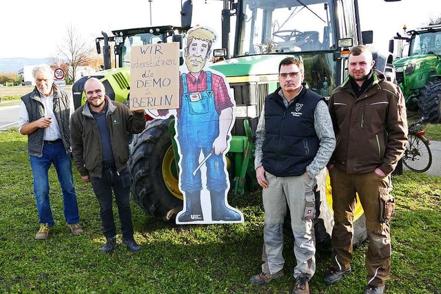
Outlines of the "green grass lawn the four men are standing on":
[[[38,229],[26,136],[0,132],[0,291],[3,293],[291,293],[296,260],[286,240],[285,277],[264,286],[249,284],[260,272],[263,207],[260,193],[232,196],[244,224],[176,225],[147,216],[132,202],[139,253],[119,244],[102,255],[98,202],[89,183],[74,172],[81,225],[74,236],[63,218],[57,174],[50,169],[50,198],[56,224],[49,240]],[[441,293],[441,178],[405,171],[393,177],[398,213],[392,221],[392,273],[385,293]],[[118,217],[116,216],[116,220]],[[117,221],[118,222],[118,221]],[[119,224],[117,223],[117,227]],[[121,235],[118,235],[121,242]],[[337,285],[323,276],[329,252],[316,255],[311,293],[363,293],[363,244],[353,255],[353,273]]]

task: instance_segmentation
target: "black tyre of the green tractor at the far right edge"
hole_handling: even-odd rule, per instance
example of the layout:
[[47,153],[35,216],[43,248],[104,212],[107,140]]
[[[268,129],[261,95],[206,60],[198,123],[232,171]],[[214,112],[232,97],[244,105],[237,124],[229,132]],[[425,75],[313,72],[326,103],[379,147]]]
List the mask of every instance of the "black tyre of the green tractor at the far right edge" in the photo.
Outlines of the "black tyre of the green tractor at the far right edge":
[[424,86],[418,108],[420,116],[427,117],[428,123],[441,122],[441,81],[433,81]]

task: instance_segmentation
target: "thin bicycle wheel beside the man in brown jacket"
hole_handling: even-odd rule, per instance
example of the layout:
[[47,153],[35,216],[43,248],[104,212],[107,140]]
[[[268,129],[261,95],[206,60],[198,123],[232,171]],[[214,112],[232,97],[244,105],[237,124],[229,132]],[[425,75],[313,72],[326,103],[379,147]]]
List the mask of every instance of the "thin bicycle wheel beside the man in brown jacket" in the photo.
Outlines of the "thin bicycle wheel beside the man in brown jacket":
[[416,134],[409,134],[409,143],[402,156],[402,162],[411,171],[423,173],[432,164],[432,152],[429,144]]

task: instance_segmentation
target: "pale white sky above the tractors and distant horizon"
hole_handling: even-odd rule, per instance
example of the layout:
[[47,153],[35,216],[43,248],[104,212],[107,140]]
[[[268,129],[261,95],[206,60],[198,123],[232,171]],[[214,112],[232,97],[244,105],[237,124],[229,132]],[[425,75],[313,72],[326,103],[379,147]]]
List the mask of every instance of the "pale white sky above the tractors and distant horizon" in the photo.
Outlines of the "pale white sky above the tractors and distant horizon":
[[[193,3],[192,25],[208,25],[220,35],[222,1]],[[416,28],[426,25],[429,17],[441,16],[440,0],[359,0],[359,4],[362,30],[373,30],[374,44],[380,50],[387,50],[388,40],[402,32],[403,24]],[[110,35],[111,30],[145,27],[150,21],[153,25],[180,25],[180,11],[181,0],[2,1],[0,59],[55,57],[71,24],[85,41],[94,44],[102,30]]]

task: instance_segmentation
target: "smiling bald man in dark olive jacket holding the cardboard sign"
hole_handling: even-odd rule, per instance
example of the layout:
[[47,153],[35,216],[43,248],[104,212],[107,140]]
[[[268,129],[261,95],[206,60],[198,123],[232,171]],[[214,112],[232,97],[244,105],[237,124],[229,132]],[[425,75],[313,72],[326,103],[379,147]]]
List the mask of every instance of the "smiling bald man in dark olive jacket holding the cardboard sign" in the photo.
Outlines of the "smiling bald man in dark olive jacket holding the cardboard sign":
[[131,112],[122,103],[111,101],[97,78],[85,82],[84,92],[87,101],[76,109],[70,120],[70,143],[76,168],[83,181],[92,182],[99,201],[103,234],[107,240],[101,253],[110,253],[116,246],[112,188],[121,220],[123,244],[131,251],[139,251],[141,247],[133,238],[130,211],[127,132],[143,131],[144,111]]

